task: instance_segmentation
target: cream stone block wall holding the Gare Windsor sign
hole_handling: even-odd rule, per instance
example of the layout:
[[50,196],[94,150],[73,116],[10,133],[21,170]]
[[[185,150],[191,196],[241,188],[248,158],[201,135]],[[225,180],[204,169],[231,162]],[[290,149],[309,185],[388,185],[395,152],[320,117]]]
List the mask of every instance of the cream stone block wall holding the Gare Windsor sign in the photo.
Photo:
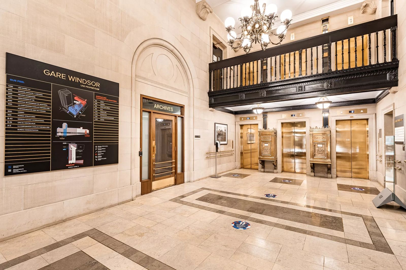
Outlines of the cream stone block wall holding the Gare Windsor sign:
[[[211,32],[226,39],[214,14],[203,21],[194,0],[11,0],[0,3],[0,74],[6,52],[120,84],[119,163],[99,167],[0,176],[0,241],[129,201],[140,194],[140,94],[186,105],[186,182],[214,172],[205,152],[213,151],[214,122],[234,117],[208,107]],[[135,80],[137,48],[150,39],[173,46],[190,77],[186,94]],[[172,52],[173,53],[173,52]],[[175,54],[174,54],[175,55]],[[165,69],[165,67],[163,67]],[[186,70],[184,71],[186,74]],[[137,83],[135,83],[137,81]],[[5,76],[0,76],[4,96]],[[179,96],[182,98],[179,99]],[[4,119],[4,99],[0,99]],[[201,135],[200,141],[194,134]],[[0,121],[0,166],[4,166],[4,122]],[[233,158],[220,159],[219,171],[235,168]]]

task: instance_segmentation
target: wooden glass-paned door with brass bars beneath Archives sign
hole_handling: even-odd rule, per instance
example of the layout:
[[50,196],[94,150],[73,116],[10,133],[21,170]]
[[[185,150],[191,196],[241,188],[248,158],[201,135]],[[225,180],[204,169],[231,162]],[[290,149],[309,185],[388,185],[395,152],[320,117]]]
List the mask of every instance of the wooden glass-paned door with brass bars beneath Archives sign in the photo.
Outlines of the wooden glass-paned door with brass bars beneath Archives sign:
[[151,180],[152,190],[175,184],[176,123],[175,116],[152,114]]

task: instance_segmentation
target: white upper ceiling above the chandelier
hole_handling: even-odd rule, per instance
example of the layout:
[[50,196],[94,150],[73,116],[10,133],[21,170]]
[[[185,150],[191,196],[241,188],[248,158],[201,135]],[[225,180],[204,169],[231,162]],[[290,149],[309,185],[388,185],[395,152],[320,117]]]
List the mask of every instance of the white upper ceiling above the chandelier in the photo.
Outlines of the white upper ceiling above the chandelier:
[[[200,2],[201,0],[196,0]],[[253,0],[206,0],[213,8],[213,12],[224,22],[227,17],[235,19],[235,32],[239,30],[238,18],[241,17],[241,9],[244,6],[250,6],[254,3]],[[338,14],[357,7],[361,7],[363,0],[259,0],[260,6],[262,3],[276,4],[278,7],[277,14],[280,15],[285,9],[292,11],[292,25],[296,27],[300,24],[305,24],[322,17]],[[279,26],[280,21],[275,22],[275,26]]]

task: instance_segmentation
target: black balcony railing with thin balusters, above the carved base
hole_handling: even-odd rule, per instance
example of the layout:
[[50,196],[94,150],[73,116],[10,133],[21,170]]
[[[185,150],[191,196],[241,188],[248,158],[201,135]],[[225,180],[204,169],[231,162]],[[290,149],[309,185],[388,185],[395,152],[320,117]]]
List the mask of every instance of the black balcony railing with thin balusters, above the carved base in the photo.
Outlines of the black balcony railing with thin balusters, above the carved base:
[[397,15],[209,64],[209,92],[397,61]]

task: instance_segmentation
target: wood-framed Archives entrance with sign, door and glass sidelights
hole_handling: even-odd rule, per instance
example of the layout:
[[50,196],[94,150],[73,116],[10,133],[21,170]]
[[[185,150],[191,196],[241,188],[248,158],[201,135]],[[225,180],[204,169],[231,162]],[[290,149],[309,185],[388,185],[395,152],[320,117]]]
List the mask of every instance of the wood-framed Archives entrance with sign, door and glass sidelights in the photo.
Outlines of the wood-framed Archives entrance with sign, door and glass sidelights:
[[184,105],[141,95],[141,195],[184,183]]

